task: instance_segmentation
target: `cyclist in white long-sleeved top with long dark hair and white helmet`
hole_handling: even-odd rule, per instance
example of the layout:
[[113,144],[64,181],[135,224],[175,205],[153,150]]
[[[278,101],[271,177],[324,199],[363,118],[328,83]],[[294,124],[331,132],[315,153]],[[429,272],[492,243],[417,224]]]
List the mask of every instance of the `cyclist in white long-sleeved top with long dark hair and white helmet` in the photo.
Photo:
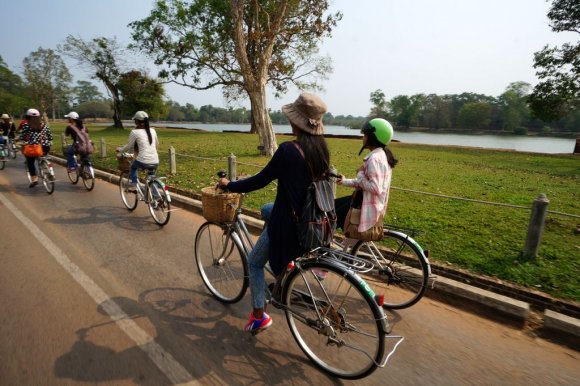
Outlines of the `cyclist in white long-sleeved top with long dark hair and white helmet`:
[[131,163],[131,185],[137,185],[138,169],[157,169],[159,155],[157,154],[157,132],[149,126],[149,115],[145,111],[137,111],[133,116],[135,128],[129,133],[126,145],[118,147],[117,152],[136,152],[137,156]]

